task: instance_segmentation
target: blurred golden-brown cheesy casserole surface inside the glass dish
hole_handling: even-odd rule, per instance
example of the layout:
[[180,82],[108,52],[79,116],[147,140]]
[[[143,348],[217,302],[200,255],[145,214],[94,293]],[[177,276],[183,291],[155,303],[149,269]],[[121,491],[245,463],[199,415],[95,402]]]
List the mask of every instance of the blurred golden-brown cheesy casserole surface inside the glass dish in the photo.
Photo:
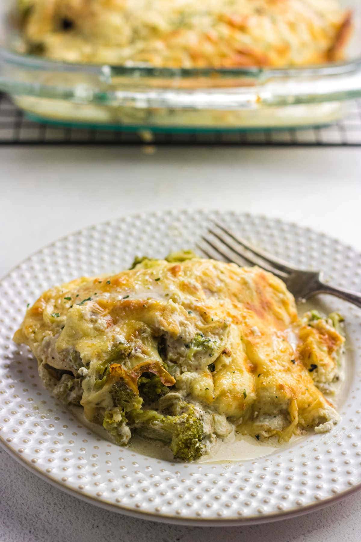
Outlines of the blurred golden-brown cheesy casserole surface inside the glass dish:
[[19,0],[28,51],[157,67],[302,66],[340,60],[337,0]]

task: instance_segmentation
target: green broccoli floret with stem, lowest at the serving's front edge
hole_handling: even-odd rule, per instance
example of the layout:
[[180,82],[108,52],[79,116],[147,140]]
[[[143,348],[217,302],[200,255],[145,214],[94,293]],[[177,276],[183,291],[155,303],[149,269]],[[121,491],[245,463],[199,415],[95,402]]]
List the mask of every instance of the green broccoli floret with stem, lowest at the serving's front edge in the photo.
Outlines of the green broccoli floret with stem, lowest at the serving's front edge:
[[177,410],[174,416],[164,416],[155,410],[132,410],[128,420],[143,437],[167,444],[174,457],[194,461],[204,450],[203,421],[192,404],[180,402]]

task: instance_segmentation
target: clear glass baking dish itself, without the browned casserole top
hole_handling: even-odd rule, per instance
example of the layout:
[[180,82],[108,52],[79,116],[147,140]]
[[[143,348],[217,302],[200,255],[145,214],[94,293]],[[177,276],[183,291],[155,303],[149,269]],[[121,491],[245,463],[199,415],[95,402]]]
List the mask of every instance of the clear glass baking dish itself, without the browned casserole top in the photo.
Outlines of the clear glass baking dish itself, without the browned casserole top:
[[19,54],[1,3],[0,90],[33,119],[120,130],[320,126],[361,96],[361,2],[348,0],[346,60],[292,69],[180,69],[75,64]]

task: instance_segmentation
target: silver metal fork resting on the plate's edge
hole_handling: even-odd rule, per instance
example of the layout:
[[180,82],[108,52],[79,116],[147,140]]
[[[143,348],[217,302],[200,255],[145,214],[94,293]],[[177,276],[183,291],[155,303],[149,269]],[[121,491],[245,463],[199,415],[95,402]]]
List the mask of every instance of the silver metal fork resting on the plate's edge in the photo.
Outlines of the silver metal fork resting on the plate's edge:
[[197,245],[209,258],[219,259],[221,256],[227,262],[234,262],[239,266],[243,266],[246,261],[251,265],[262,267],[283,280],[287,289],[296,299],[309,299],[315,294],[330,294],[361,308],[360,294],[325,284],[322,272],[296,269],[280,258],[268,254],[265,250],[254,247],[222,224],[217,222],[213,222],[213,224],[215,228],[208,229],[210,235],[202,236],[206,248],[200,244]]

